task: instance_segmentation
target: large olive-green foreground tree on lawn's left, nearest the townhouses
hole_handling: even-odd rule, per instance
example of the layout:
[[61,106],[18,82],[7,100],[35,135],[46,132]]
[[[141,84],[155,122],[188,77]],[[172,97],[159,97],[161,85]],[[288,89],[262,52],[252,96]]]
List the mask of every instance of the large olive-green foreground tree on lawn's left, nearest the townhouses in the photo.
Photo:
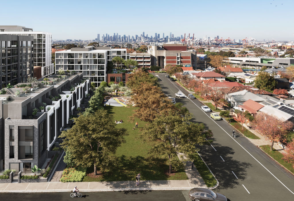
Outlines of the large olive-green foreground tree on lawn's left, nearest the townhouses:
[[126,129],[117,129],[113,116],[102,109],[91,115],[80,115],[74,122],[71,129],[61,133],[60,137],[64,138],[61,147],[72,154],[76,165],[94,165],[94,175],[97,175],[97,168],[104,168],[125,142]]

